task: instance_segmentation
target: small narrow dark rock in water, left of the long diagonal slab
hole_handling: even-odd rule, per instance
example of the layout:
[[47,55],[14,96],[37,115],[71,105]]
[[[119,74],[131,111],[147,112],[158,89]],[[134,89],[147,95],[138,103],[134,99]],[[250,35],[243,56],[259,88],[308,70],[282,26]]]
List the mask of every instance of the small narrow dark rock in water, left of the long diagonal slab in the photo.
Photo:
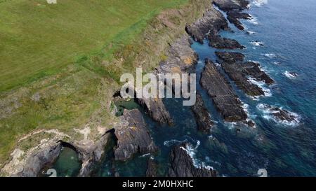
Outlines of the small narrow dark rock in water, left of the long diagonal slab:
[[198,92],[195,105],[192,106],[192,111],[195,114],[195,119],[197,120],[197,128],[199,129],[199,131],[208,133],[214,123],[211,120],[211,114],[204,106],[204,101],[201,94],[199,94]]

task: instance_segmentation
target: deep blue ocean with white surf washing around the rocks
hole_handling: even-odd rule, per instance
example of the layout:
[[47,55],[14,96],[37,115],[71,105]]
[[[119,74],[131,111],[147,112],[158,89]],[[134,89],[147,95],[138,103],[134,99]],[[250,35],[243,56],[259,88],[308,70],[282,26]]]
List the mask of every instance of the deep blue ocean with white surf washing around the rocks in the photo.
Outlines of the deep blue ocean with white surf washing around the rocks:
[[[112,153],[108,152],[93,176],[111,176],[113,169],[120,176],[145,176],[148,157],[157,160],[159,174],[164,175],[169,167],[171,147],[181,141],[192,143],[190,155],[195,164],[211,166],[220,176],[257,176],[258,169],[266,169],[268,176],[316,176],[316,1],[258,2],[251,3],[246,11],[253,19],[242,20],[245,31],[230,24],[234,32],[221,33],[246,46],[237,51],[246,55],[246,60],[260,62],[276,82],[270,87],[263,85],[266,96],[258,99],[247,97],[231,82],[249,118],[256,122],[256,129],[223,122],[209,96],[197,83],[197,90],[202,92],[216,122],[211,134],[197,132],[190,107],[183,107],[179,99],[166,99],[165,104],[175,122],[173,127],[159,125],[143,112],[160,152],[154,156],[137,155],[129,162],[114,162]],[[246,31],[251,32],[247,34]],[[194,43],[192,48],[199,55],[199,82],[204,59],[216,62],[215,49],[210,48],[207,41],[203,45]],[[298,76],[291,76],[290,72]],[[299,121],[278,122],[260,108],[261,104],[287,109],[297,115]],[[237,133],[236,128],[242,131]],[[77,171],[60,165],[69,164],[65,157],[60,160],[55,165],[63,172],[60,176],[71,176]]]

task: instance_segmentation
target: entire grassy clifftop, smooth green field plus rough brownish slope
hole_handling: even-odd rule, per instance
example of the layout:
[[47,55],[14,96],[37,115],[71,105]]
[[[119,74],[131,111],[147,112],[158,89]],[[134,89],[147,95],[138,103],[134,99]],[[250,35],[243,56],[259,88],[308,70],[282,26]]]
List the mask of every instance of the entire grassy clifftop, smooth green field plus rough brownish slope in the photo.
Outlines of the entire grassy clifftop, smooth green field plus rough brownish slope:
[[[152,71],[210,0],[0,1],[0,168],[57,129],[110,128],[121,73]],[[102,131],[101,131],[102,132]],[[22,141],[18,141],[18,140]]]

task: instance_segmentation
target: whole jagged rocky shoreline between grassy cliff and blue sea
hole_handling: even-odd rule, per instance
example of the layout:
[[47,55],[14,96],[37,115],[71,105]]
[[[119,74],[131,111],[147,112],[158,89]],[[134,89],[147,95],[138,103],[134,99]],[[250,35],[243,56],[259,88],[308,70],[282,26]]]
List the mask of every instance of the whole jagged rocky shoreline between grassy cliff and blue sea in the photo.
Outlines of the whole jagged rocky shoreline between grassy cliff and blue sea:
[[[235,24],[238,29],[243,30],[240,19],[250,19],[250,15],[242,13],[249,2],[246,0],[213,0],[228,15],[228,21]],[[192,24],[187,24],[185,31],[187,34],[181,36],[172,43],[167,58],[159,63],[156,73],[190,73],[195,72],[198,56],[192,50],[190,36],[199,43],[204,43],[204,38],[209,39],[209,45],[218,49],[242,49],[244,48],[238,41],[230,38],[223,38],[220,31],[230,31],[228,21],[220,11],[216,10],[210,3],[210,8],[203,17]],[[249,82],[248,76],[258,81],[264,81],[267,85],[274,83],[260,68],[256,62],[244,62],[244,55],[238,52],[216,52],[220,66],[228,76],[235,81],[236,85],[250,96],[261,96],[265,92],[261,87]],[[232,86],[223,75],[222,71],[210,59],[205,61],[204,71],[199,83],[209,94],[213,104],[226,122],[242,122],[249,127],[254,127],[254,122],[249,120],[249,116],[244,111],[242,101],[239,100]],[[172,88],[172,87],[171,87]],[[172,124],[172,118],[164,106],[162,99],[136,99],[148,113],[150,118],[159,123]],[[213,127],[211,113],[204,106],[202,96],[197,92],[197,101],[192,106],[192,113],[195,116],[198,130],[209,133]],[[269,108],[273,115],[280,120],[293,120],[289,112],[278,108]],[[107,131],[96,141],[84,140],[81,142],[70,141],[74,150],[79,154],[81,160],[81,170],[78,176],[89,176],[93,170],[93,165],[100,162],[104,153],[105,145],[110,139],[110,134],[117,139],[117,146],[114,147],[114,159],[119,161],[130,160],[136,154],[154,154],[159,148],[155,146],[150,131],[147,129],[142,113],[138,109],[125,110],[119,117],[119,122],[113,129]],[[28,153],[26,160],[19,164],[13,160],[4,169],[11,176],[37,176],[43,167],[52,164],[60,154],[64,137],[56,136],[55,139],[39,146],[39,150]],[[196,167],[194,161],[187,153],[189,143],[182,143],[174,146],[170,153],[171,167],[168,176],[171,177],[214,177],[216,170]],[[18,169],[14,170],[14,169]],[[157,176],[157,162],[149,159],[147,162],[146,176]]]

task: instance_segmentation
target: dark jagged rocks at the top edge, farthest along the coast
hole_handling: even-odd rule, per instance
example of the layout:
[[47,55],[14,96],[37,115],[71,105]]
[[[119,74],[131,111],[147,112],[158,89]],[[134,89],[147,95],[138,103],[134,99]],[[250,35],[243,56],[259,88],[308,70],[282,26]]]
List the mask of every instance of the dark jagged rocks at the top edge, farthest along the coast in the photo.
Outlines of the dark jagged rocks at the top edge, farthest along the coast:
[[249,6],[246,0],[213,0],[213,3],[227,13],[228,20],[234,24],[237,29],[244,30],[240,19],[250,20],[251,15],[242,13],[242,10]]

